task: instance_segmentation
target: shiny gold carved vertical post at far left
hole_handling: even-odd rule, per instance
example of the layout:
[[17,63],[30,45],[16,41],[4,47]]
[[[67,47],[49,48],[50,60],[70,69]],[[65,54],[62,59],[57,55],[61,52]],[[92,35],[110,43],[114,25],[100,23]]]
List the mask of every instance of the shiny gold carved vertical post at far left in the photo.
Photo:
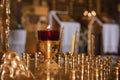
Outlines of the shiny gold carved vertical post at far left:
[[2,0],[2,29],[3,29],[3,52],[8,50],[8,36],[10,26],[10,3],[9,0]]

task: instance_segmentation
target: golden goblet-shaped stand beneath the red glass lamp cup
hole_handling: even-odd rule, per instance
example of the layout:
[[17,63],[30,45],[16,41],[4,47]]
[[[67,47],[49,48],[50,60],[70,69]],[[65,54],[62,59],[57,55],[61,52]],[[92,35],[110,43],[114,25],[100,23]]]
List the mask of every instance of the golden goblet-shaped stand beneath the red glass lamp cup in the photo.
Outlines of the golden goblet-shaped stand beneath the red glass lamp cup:
[[39,41],[39,49],[41,53],[44,55],[44,62],[39,64],[37,67],[39,71],[50,71],[50,72],[57,72],[60,66],[52,59],[59,50],[59,40],[56,41]]

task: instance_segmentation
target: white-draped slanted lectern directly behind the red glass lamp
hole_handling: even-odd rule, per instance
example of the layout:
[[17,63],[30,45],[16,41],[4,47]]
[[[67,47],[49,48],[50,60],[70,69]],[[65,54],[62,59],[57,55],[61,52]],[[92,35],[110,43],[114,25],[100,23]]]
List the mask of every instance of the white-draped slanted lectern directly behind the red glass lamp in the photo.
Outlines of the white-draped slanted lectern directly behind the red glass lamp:
[[79,41],[80,23],[75,22],[66,11],[50,11],[49,24],[54,24],[64,28],[62,52],[70,52],[72,45],[72,35],[75,34],[76,30],[79,33],[77,36]]

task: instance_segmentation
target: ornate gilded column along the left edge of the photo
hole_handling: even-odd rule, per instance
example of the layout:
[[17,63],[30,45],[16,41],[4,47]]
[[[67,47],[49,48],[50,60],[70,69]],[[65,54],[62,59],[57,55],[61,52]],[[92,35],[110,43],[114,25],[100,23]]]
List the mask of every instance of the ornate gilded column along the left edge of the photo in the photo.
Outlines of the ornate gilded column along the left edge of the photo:
[[9,0],[1,0],[0,3],[0,64],[3,54],[8,51],[8,36],[10,25],[10,3]]

